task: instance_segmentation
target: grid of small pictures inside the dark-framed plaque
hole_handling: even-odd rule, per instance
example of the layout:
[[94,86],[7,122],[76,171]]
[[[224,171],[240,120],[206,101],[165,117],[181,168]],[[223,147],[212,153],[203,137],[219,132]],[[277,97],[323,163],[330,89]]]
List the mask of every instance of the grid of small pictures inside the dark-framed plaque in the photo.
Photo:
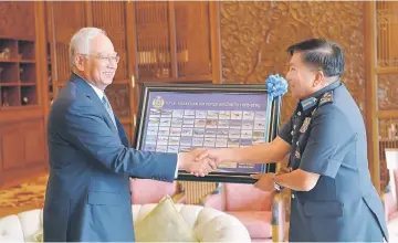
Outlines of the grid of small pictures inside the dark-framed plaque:
[[[265,142],[266,113],[258,110],[196,110],[150,108],[144,148],[179,152],[195,148],[235,148]],[[218,171],[253,168],[226,162]]]

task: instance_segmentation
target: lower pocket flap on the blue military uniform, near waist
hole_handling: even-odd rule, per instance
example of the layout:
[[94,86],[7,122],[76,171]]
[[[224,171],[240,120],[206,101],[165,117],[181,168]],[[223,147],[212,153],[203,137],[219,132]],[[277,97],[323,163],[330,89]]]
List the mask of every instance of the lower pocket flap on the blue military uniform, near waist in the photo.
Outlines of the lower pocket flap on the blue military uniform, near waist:
[[338,201],[305,201],[304,214],[306,216],[343,216],[343,203]]

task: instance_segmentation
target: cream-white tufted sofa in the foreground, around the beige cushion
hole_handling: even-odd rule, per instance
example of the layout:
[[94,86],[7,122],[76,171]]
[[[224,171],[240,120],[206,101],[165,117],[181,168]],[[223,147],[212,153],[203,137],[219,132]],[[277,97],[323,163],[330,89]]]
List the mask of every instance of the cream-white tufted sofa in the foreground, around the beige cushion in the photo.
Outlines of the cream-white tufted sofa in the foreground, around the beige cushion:
[[[155,207],[155,203],[133,204],[134,222]],[[234,216],[200,205],[176,204],[176,209],[200,242],[251,242],[248,230]],[[41,209],[4,216],[0,219],[0,242],[34,242],[40,239],[42,224]]]

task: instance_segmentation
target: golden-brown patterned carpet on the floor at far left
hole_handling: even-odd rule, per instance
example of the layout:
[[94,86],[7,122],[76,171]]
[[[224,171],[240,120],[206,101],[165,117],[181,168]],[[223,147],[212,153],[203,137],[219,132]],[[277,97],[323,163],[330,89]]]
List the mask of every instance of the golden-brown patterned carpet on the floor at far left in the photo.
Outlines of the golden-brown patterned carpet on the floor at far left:
[[0,218],[44,205],[48,176],[0,189]]

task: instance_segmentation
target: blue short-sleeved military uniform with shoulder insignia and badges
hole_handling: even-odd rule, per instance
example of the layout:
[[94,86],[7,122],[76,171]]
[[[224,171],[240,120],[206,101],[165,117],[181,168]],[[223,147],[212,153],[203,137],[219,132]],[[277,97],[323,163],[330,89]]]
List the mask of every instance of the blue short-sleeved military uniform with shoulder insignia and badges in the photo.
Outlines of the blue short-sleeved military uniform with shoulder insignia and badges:
[[381,242],[381,200],[371,184],[362,114],[342,82],[301,101],[280,137],[292,170],[321,175],[311,191],[292,191],[291,242]]

